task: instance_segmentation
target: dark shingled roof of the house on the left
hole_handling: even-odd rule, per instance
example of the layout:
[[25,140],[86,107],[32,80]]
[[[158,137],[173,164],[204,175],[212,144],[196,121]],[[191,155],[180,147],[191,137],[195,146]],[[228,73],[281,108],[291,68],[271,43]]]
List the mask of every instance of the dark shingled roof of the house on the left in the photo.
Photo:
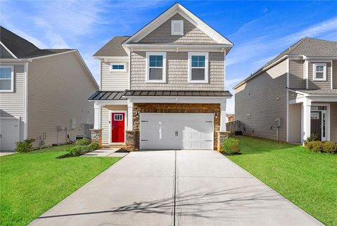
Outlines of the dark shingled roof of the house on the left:
[[72,51],[72,49],[40,49],[34,44],[0,26],[0,58],[33,58],[55,53]]

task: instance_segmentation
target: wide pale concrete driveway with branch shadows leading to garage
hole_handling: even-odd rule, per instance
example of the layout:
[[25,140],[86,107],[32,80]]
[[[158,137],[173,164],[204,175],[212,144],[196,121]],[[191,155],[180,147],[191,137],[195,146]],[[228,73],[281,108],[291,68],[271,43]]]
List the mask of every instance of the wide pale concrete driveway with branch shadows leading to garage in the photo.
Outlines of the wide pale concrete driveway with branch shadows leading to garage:
[[131,152],[31,225],[322,225],[212,151]]

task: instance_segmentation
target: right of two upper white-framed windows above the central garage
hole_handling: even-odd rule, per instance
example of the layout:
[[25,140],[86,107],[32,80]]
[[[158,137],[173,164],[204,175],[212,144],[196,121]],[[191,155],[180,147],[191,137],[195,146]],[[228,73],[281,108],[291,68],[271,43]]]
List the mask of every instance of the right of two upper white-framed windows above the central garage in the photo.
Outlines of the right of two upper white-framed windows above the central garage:
[[188,82],[209,82],[209,53],[188,53]]

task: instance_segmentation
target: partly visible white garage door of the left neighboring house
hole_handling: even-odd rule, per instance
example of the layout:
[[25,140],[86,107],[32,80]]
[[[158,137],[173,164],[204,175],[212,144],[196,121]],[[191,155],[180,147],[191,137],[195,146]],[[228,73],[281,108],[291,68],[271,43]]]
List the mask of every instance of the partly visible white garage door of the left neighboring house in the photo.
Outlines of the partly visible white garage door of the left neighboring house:
[[19,139],[19,120],[0,119],[0,150],[13,151]]

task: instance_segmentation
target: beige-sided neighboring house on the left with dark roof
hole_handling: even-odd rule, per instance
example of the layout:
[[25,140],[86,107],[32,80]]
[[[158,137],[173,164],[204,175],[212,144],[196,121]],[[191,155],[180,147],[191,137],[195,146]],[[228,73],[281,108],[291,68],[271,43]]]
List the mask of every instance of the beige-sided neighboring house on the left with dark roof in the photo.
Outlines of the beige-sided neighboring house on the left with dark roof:
[[0,27],[1,150],[34,138],[34,147],[60,144],[88,131],[98,88],[77,50],[39,49]]

